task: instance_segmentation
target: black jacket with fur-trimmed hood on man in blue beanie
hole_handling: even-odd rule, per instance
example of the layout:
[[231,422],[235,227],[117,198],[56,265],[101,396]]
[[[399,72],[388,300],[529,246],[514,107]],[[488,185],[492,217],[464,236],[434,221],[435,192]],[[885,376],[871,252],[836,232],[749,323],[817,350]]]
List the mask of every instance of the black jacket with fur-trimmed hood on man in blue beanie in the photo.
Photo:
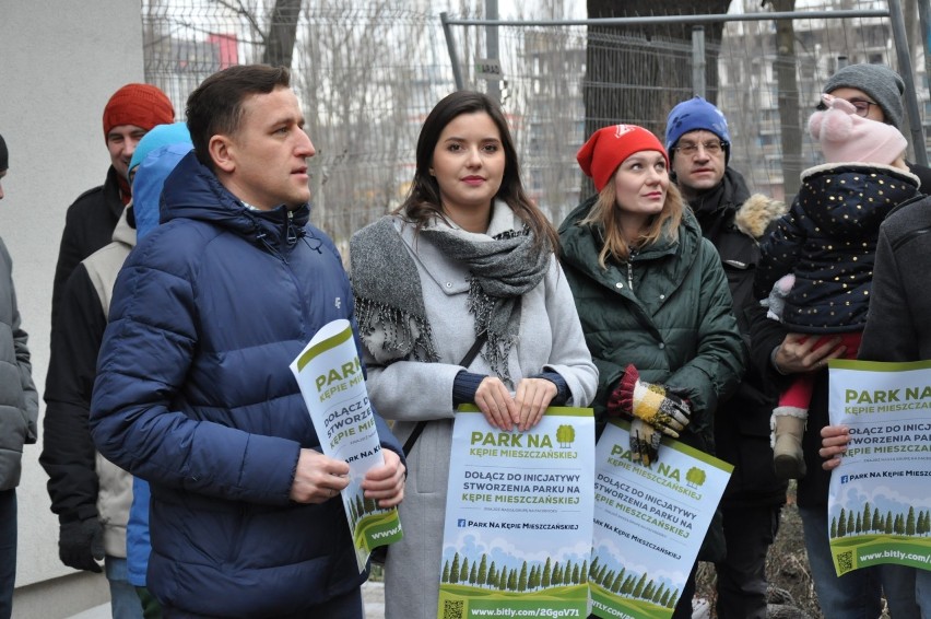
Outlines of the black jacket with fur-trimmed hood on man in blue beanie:
[[[759,260],[759,240],[775,218],[785,212],[779,202],[750,196],[743,177],[731,168],[721,185],[691,201],[702,232],[715,244],[728,276],[734,316],[750,347],[750,319],[756,301],[753,279]],[[715,443],[719,458],[734,465],[722,500],[723,507],[781,505],[783,481],[773,469],[769,417],[778,393],[764,381],[763,371],[751,359],[736,394],[718,407]]]

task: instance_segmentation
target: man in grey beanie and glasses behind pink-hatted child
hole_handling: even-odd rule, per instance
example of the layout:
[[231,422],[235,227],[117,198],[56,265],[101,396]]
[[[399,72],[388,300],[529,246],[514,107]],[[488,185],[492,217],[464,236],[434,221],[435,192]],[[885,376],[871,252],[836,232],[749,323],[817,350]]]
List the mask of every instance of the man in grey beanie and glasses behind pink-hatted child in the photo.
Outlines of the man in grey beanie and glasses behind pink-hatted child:
[[[892,125],[905,132],[901,105],[905,82],[885,65],[848,65],[827,80],[823,92],[846,98],[857,108],[857,114],[864,118]],[[822,109],[823,105],[818,104],[818,109]],[[922,194],[931,191],[931,170],[907,163],[911,173],[921,180],[919,190]]]

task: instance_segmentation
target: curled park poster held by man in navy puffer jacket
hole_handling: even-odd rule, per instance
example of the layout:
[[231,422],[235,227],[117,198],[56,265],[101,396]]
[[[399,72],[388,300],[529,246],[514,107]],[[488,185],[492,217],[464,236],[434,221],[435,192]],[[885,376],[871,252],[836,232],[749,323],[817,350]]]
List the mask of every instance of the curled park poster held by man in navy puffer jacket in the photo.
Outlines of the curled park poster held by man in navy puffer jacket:
[[362,490],[366,471],[384,465],[385,458],[349,320],[333,320],[317,331],[291,371],[323,455],[350,465],[350,484],[341,495],[362,571],[373,548],[398,541],[403,534],[398,510],[382,510]]

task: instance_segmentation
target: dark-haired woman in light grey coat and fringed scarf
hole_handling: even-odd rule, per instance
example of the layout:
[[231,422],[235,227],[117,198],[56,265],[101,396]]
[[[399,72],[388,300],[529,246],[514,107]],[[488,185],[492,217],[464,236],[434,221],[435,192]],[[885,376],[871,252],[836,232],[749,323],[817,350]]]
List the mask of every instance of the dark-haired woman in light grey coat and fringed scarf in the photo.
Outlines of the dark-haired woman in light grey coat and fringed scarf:
[[[497,104],[458,92],[427,116],[404,203],[353,236],[368,393],[408,456],[404,538],[390,547],[388,619],[436,617],[452,421],[474,402],[525,431],[547,406],[588,406],[598,371],[585,346],[557,236],[520,184]],[[466,361],[473,344],[481,354]]]

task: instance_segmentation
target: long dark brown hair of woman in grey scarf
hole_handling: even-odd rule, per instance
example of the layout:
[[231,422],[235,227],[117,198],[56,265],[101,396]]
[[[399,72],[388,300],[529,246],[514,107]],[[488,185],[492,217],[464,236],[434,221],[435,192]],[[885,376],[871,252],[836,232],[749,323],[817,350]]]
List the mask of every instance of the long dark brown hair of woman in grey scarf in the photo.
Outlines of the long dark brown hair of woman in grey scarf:
[[520,182],[520,165],[517,161],[517,149],[514,147],[514,138],[507,126],[507,120],[500,107],[485,94],[472,91],[458,91],[445,96],[427,115],[417,138],[416,171],[408,197],[398,207],[396,213],[403,214],[408,220],[414,222],[420,230],[434,217],[444,217],[443,203],[439,198],[439,185],[429,173],[433,166],[433,153],[439,141],[443,130],[455,118],[462,114],[474,114],[484,112],[487,114],[500,133],[502,147],[505,153],[505,171],[502,186],[495,198],[503,200],[514,213],[533,233],[538,246],[544,240],[555,252],[558,247],[558,235],[550,220],[534,205],[523,191]]

